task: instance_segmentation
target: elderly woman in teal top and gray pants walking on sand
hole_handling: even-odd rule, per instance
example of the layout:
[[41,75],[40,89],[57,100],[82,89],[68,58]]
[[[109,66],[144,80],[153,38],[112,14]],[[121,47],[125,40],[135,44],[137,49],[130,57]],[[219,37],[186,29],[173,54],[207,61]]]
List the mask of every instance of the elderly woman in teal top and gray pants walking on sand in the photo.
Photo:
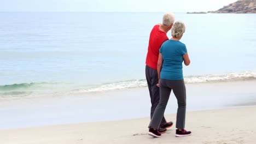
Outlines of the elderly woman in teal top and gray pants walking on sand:
[[165,41],[159,50],[158,86],[160,87],[160,101],[158,106],[156,106],[154,115],[148,127],[148,134],[154,137],[161,137],[158,129],[161,119],[164,116],[165,108],[172,90],[178,101],[176,136],[191,135],[191,131],[186,131],[184,129],[186,112],[186,89],[183,80],[182,62],[184,61],[185,65],[190,64],[187,48],[185,44],[179,41],[185,32],[184,23],[175,22],[171,32],[172,38]]

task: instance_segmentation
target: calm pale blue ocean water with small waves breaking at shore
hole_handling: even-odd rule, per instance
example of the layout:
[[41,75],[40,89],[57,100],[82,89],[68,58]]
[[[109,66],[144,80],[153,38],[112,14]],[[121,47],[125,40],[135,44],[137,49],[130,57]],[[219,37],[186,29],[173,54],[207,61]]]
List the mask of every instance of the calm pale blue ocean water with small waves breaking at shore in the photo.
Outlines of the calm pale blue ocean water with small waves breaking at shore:
[[[146,87],[162,14],[0,13],[0,98]],[[186,83],[256,80],[256,14],[175,14],[186,26]]]

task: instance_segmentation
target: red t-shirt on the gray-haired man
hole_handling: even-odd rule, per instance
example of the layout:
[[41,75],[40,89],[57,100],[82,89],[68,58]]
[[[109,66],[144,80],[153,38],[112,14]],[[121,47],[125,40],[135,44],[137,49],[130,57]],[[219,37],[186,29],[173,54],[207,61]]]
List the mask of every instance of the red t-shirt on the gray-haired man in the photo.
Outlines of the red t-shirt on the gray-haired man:
[[149,43],[148,43],[148,53],[146,58],[146,64],[148,67],[157,69],[158,65],[158,55],[159,49],[164,43],[168,40],[168,37],[165,32],[160,31],[160,25],[155,25],[150,33]]

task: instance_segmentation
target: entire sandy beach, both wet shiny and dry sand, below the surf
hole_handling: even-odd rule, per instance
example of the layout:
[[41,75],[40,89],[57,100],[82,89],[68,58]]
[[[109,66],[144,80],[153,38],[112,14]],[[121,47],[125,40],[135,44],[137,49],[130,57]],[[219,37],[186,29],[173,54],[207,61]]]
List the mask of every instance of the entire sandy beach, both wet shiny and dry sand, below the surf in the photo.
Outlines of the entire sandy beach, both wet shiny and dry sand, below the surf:
[[[0,143],[203,143],[253,144],[256,140],[256,81],[188,83],[187,130],[175,126],[149,136],[148,89],[1,100]],[[131,106],[132,105],[132,106]],[[173,93],[167,121],[176,123]]]

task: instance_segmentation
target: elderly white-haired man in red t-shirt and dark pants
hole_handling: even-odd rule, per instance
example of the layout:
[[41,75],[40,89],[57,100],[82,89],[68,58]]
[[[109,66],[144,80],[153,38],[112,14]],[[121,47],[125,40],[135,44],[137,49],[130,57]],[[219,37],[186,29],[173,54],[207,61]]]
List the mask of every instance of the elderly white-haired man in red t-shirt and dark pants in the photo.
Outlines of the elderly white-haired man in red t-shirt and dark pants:
[[[152,104],[150,118],[152,118],[160,99],[159,87],[157,86],[159,81],[157,71],[159,49],[162,43],[168,40],[166,33],[172,28],[173,22],[173,14],[164,14],[162,17],[162,23],[153,27],[149,37],[148,53],[146,58],[146,79]],[[165,117],[162,117],[159,133],[165,133],[166,129],[170,128],[172,124],[172,122],[166,122]]]

